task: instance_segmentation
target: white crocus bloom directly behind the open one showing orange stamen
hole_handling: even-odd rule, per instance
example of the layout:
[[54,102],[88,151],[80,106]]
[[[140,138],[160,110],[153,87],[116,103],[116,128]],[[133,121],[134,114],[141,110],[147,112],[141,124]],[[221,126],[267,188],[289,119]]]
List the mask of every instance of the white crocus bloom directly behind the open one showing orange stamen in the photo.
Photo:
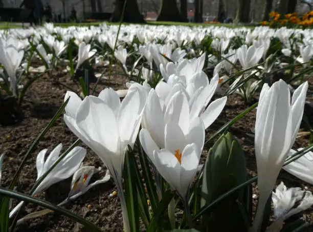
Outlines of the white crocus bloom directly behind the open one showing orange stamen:
[[[176,92],[162,106],[161,100],[154,89],[148,94],[147,106],[144,111],[142,126],[147,129],[158,147],[165,147],[164,128],[165,124],[175,122],[181,126],[185,134],[188,133],[188,125],[196,118],[200,117],[204,122],[205,129],[208,128],[218,117],[227,98],[220,98],[213,101],[203,114],[202,108],[190,106],[184,91],[177,89]],[[200,104],[200,103],[199,103]],[[200,104],[201,106],[201,104]]]

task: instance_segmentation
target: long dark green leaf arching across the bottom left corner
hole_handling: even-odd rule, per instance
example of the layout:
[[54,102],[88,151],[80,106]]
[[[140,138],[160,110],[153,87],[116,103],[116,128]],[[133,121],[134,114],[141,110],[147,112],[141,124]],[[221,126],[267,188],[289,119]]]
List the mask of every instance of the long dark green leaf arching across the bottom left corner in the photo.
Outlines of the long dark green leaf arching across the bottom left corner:
[[68,209],[64,209],[64,208],[61,208],[57,205],[51,204],[48,201],[44,201],[44,200],[41,200],[41,199],[38,199],[35,197],[31,197],[31,196],[28,196],[26,194],[17,193],[17,192],[11,191],[11,190],[3,188],[3,187],[0,187],[0,195],[5,196],[6,198],[14,198],[14,199],[20,200],[20,201],[27,201],[30,203],[34,203],[36,205],[40,205],[44,208],[51,209],[55,213],[58,213],[60,215],[64,215],[64,216],[82,224],[83,226],[85,226],[88,229],[88,231],[99,231],[99,232],[101,231],[100,228],[95,226],[90,221],[74,214],[73,212],[71,212]]

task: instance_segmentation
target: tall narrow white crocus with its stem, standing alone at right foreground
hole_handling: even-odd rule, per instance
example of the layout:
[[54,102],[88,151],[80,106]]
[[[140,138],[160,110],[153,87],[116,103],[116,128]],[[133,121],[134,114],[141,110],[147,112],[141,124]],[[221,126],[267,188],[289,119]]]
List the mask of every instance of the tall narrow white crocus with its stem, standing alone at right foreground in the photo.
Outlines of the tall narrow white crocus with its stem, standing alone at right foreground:
[[267,199],[297,137],[308,83],[297,88],[290,104],[288,85],[279,80],[260,93],[255,123],[255,155],[259,202],[253,227],[257,231]]

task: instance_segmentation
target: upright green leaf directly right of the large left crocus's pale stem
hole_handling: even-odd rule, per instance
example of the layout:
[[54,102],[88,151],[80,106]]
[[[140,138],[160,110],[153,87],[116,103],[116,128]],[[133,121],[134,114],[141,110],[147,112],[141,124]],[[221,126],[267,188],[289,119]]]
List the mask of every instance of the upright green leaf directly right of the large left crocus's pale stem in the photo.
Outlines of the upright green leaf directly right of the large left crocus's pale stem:
[[127,152],[124,162],[124,185],[130,229],[139,231],[138,189],[136,177],[136,160],[132,152]]

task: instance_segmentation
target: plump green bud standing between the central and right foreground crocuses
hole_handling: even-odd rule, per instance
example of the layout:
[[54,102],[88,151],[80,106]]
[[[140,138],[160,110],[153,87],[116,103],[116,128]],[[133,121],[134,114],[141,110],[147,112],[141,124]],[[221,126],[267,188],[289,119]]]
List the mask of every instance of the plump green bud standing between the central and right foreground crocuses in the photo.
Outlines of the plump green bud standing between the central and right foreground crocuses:
[[[210,149],[203,175],[201,207],[247,181],[243,151],[230,133],[222,135]],[[244,224],[239,223],[242,220],[236,203],[236,200],[245,202],[245,191],[247,187],[222,200],[209,215],[203,216],[203,224],[212,231],[247,230]]]

